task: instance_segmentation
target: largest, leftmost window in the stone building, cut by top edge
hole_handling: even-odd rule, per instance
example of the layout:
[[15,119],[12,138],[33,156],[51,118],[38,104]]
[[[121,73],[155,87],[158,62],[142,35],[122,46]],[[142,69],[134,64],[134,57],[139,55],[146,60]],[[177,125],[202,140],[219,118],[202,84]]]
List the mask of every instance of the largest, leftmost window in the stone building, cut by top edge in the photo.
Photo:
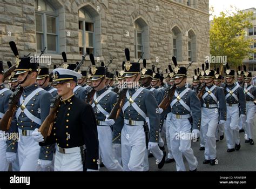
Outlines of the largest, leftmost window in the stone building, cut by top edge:
[[35,1],[37,50],[47,47],[48,52],[57,53],[58,17],[52,6],[44,0]]

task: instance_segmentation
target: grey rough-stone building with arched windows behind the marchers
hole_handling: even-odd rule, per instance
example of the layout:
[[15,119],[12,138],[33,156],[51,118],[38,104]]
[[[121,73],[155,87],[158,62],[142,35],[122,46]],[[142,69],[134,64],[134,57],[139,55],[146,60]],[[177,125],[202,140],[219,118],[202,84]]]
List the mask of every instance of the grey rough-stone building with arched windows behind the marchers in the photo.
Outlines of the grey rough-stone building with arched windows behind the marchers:
[[[4,62],[14,60],[10,40],[22,56],[46,46],[51,64],[62,62],[63,51],[72,63],[90,52],[105,64],[115,57],[110,71],[119,70],[129,48],[131,60],[144,52],[150,68],[165,70],[172,56],[185,66],[193,61],[192,74],[210,53],[208,0],[2,0]],[[89,65],[87,56],[83,69]]]

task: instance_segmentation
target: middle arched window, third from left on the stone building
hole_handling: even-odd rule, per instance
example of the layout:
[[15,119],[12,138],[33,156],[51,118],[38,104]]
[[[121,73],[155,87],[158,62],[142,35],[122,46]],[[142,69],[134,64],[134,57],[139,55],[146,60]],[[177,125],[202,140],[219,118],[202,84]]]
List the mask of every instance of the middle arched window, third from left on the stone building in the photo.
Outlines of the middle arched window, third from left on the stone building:
[[134,22],[134,52],[135,58],[140,58],[144,52],[143,58],[149,59],[149,26],[142,19],[138,18]]

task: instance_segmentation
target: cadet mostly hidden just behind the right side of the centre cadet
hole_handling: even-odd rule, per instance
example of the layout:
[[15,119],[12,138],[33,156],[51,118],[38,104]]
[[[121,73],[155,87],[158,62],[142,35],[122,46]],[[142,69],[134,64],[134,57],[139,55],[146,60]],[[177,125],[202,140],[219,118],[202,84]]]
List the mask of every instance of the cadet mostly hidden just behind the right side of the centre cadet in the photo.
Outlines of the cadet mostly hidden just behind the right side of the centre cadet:
[[[152,81],[152,77],[153,77],[153,71],[151,69],[146,69],[146,60],[144,59],[143,60],[143,69],[142,69],[142,75],[140,76],[140,83],[142,84],[142,86],[147,89],[147,90],[150,90],[152,93],[153,93],[153,96],[154,98],[156,98],[157,100],[157,104],[159,105],[162,100],[163,100],[163,95],[161,94],[160,91],[158,91],[157,89],[154,89],[152,86],[151,86],[151,81]],[[159,113],[160,113],[160,128],[163,127],[163,124],[164,124],[164,113],[163,112],[163,109],[159,110]],[[148,123],[149,125],[149,130],[150,130],[150,122],[149,122],[149,118],[147,117],[146,118],[146,122]],[[156,146],[156,149],[154,149],[152,151],[152,154],[154,157],[159,158],[161,156],[163,156],[165,158],[165,154],[164,152],[161,152],[164,151],[164,140],[160,137],[160,132],[161,132],[161,129],[159,130],[159,140],[158,140],[158,146]],[[163,159],[163,158],[161,158]]]

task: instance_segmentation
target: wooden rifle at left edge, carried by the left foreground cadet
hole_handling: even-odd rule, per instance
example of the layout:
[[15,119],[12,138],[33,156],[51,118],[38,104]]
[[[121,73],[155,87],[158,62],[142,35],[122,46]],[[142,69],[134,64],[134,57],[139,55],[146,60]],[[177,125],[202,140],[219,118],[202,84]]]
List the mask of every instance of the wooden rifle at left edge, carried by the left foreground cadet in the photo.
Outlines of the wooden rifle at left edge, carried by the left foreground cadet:
[[19,98],[22,96],[24,88],[19,84],[15,89],[14,93],[9,98],[8,110],[4,113],[3,118],[0,121],[0,130],[7,131],[11,126],[12,118],[17,109],[17,103]]

